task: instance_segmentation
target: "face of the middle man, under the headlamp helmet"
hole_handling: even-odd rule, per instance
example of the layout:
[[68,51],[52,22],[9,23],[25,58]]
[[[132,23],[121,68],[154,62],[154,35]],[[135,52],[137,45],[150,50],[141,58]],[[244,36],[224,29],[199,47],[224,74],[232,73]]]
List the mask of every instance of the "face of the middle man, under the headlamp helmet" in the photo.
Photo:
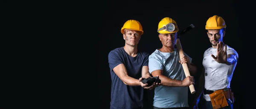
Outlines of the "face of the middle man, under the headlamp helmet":
[[159,34],[158,36],[163,46],[168,48],[174,48],[177,40],[177,32],[171,34]]

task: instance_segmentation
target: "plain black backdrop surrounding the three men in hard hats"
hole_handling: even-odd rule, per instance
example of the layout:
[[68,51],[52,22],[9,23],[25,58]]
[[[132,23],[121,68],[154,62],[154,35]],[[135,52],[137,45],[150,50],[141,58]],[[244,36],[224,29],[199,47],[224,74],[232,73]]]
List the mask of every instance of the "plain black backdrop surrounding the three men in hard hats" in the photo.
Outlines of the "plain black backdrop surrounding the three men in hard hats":
[[[227,25],[224,43],[239,54],[231,88],[234,109],[253,103],[253,8],[246,0],[92,0],[19,3],[5,6],[5,18],[17,39],[10,37],[3,62],[0,109],[109,109],[111,78],[108,53],[124,46],[120,32],[127,20],[143,26],[138,48],[148,53],[161,48],[158,23],[171,17],[181,30],[183,51],[202,69],[203,53],[211,47],[205,24],[218,15]],[[15,7],[15,8],[14,8]],[[12,11],[12,12],[10,12]],[[11,25],[9,23],[13,22]],[[21,24],[20,24],[21,23]],[[251,27],[252,26],[252,27]],[[7,28],[9,29],[9,28]],[[251,31],[252,30],[252,31]],[[14,42],[15,40],[15,42]],[[251,42],[250,42],[251,41]],[[249,49],[249,50],[247,50]],[[248,52],[249,51],[249,52]],[[244,67],[246,66],[246,67]],[[253,67],[251,67],[253,66]],[[195,87],[199,75],[195,76]],[[145,107],[152,109],[154,90],[146,90]],[[191,106],[195,95],[189,93]],[[17,108],[14,108],[17,107]]]

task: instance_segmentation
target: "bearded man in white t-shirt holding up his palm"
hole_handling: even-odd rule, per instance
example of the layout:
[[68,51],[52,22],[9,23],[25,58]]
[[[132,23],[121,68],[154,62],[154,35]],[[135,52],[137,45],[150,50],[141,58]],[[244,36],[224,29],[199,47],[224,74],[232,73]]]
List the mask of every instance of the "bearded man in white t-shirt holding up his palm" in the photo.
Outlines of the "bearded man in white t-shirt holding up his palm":
[[204,52],[204,69],[198,82],[194,109],[198,109],[201,95],[204,98],[200,102],[201,109],[233,109],[235,99],[230,81],[238,61],[238,53],[222,42],[226,32],[222,17],[210,17],[205,29],[212,47]]

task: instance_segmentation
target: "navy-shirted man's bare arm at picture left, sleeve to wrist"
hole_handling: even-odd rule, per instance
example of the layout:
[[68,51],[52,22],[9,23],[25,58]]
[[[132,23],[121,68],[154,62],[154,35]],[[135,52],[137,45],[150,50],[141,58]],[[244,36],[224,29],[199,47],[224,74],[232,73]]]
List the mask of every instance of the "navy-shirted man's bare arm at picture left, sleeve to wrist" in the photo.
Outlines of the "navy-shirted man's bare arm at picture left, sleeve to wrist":
[[128,76],[127,70],[124,64],[119,64],[113,68],[116,75],[124,82],[124,84],[129,86],[141,86],[138,79]]

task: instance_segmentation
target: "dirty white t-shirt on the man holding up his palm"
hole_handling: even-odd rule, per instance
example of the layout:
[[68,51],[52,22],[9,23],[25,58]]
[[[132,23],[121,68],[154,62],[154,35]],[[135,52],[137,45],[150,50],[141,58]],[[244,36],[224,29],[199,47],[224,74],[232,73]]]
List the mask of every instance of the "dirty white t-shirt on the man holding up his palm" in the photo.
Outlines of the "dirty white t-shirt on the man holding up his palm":
[[[218,63],[215,61],[211,54],[216,56],[217,54],[216,48],[208,48],[204,52],[203,66],[205,69],[204,77],[205,84],[204,87],[207,90],[216,91],[218,89],[226,89],[230,88],[230,81],[233,76],[233,71],[235,70],[236,64],[227,65]],[[227,46],[227,54],[234,53],[236,54],[236,58],[238,59],[238,53],[233,48]],[[210,97],[208,94],[203,97],[206,101],[210,101]]]

